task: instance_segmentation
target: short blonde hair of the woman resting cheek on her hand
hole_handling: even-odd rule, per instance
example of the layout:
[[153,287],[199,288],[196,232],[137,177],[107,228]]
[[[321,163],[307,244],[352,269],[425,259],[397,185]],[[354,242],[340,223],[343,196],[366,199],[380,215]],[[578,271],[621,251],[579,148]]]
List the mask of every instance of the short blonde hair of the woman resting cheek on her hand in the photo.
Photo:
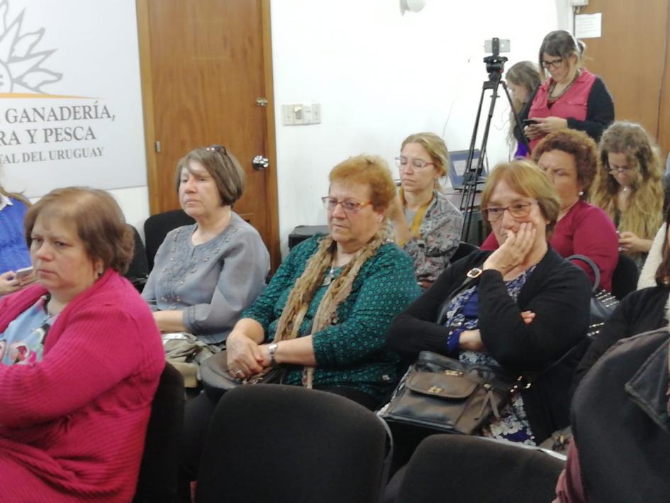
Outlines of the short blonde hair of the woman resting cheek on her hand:
[[546,231],[547,241],[549,241],[558,220],[561,200],[556,187],[549,181],[547,175],[537,167],[535,162],[525,159],[516,159],[497,165],[486,178],[484,192],[481,194],[482,209],[488,207],[493,191],[503,180],[514,192],[537,200],[542,216],[549,221]]

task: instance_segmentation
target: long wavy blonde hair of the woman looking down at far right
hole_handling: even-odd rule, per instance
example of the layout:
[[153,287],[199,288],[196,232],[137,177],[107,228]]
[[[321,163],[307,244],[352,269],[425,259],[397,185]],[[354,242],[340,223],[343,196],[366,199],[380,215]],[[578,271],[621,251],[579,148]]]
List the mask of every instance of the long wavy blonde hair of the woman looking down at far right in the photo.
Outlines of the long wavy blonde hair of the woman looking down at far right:
[[659,150],[640,124],[618,121],[605,129],[600,145],[603,169],[596,175],[591,202],[615,219],[619,184],[605,171],[610,153],[625,154],[628,165],[637,170],[628,207],[621,212],[619,229],[642,239],[653,239],[663,221],[663,165]]

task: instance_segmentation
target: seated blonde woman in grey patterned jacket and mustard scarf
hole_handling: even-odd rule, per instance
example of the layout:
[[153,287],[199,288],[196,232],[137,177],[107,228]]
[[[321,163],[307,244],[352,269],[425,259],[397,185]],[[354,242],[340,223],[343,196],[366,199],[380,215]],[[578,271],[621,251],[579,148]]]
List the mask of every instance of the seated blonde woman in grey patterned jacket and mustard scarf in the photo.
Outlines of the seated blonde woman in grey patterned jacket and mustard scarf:
[[396,157],[401,188],[389,208],[393,238],[414,260],[417,280],[430,286],[456,252],[463,216],[441,192],[449,152],[435,133],[408,136]]

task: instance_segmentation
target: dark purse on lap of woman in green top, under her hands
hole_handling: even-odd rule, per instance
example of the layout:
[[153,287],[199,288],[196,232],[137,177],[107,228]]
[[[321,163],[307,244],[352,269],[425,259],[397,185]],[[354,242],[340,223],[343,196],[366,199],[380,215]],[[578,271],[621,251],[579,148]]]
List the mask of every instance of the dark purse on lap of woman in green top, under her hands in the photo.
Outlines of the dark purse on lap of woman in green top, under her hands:
[[251,380],[235,377],[228,370],[228,358],[226,351],[220,351],[200,364],[200,378],[208,397],[218,400],[230,389],[251,384],[281,384],[284,380],[286,369],[284,367],[272,367],[269,372],[261,377]]

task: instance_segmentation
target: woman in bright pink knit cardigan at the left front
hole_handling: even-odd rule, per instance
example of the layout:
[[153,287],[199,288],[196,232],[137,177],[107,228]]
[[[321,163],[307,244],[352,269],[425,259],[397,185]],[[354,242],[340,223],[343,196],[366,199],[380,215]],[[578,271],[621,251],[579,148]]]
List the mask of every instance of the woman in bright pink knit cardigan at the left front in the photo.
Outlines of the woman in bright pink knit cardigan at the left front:
[[0,300],[0,500],[128,502],[164,367],[121,276],[133,236],[94,189],[47,194],[25,226],[38,284]]

